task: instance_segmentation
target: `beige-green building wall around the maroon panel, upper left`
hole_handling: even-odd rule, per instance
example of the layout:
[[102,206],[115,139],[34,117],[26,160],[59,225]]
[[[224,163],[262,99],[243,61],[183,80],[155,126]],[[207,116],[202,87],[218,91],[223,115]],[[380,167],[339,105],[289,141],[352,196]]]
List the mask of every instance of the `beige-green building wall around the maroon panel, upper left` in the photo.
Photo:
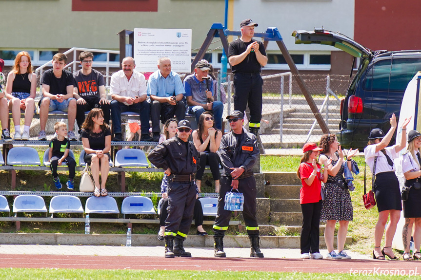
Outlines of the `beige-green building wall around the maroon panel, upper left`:
[[212,23],[223,22],[224,1],[158,0],[158,12],[79,12],[72,0],[0,0],[0,11],[0,48],[118,49],[116,34],[134,28],[192,29],[198,48]]

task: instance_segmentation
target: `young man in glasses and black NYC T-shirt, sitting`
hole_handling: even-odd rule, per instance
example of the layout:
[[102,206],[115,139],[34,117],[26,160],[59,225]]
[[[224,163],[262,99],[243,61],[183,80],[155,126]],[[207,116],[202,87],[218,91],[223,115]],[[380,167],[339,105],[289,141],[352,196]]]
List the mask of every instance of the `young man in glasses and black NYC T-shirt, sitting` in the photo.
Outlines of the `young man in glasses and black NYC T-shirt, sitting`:
[[110,101],[105,94],[104,77],[100,72],[92,69],[94,55],[91,52],[81,52],[79,55],[82,69],[76,72],[75,88],[73,97],[76,98],[76,122],[78,123],[79,133],[82,124],[85,121],[85,112],[92,108],[101,108],[104,112],[104,122],[110,122]]

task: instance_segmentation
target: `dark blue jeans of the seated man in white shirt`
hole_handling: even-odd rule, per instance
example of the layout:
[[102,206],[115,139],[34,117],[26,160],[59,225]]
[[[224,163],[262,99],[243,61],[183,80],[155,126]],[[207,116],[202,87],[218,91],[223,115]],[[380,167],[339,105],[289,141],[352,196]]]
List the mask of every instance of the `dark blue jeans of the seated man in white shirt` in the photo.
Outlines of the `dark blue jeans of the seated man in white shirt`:
[[125,105],[117,100],[111,101],[111,120],[114,133],[121,133],[121,112],[137,112],[140,114],[141,134],[149,134],[149,103],[146,101]]

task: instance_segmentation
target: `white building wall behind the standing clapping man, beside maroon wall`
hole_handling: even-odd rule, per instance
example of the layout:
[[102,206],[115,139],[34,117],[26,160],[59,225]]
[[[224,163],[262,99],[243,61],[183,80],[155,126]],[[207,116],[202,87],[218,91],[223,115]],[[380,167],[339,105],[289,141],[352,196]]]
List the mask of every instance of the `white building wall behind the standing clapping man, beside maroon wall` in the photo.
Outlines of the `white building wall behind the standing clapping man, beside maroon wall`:
[[[240,30],[243,19],[259,23],[256,32],[264,32],[267,27],[278,27],[287,49],[294,51],[334,51],[329,46],[296,45],[294,30],[340,31],[354,37],[354,0],[234,0],[234,30]],[[279,50],[270,42],[268,50]]]

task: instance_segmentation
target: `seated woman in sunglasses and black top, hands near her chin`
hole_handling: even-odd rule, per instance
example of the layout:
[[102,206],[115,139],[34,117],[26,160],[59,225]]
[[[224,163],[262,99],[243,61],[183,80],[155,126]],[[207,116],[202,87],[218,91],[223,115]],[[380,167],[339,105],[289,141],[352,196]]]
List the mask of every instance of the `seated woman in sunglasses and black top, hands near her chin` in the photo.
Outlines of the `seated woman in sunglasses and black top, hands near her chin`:
[[215,180],[215,192],[219,192],[221,174],[219,165],[221,159],[218,149],[221,144],[222,132],[215,128],[214,116],[211,112],[203,112],[199,118],[198,130],[193,131],[192,138],[196,149],[200,152],[200,169],[196,172],[196,185],[200,192],[200,182],[209,165],[212,177]]

